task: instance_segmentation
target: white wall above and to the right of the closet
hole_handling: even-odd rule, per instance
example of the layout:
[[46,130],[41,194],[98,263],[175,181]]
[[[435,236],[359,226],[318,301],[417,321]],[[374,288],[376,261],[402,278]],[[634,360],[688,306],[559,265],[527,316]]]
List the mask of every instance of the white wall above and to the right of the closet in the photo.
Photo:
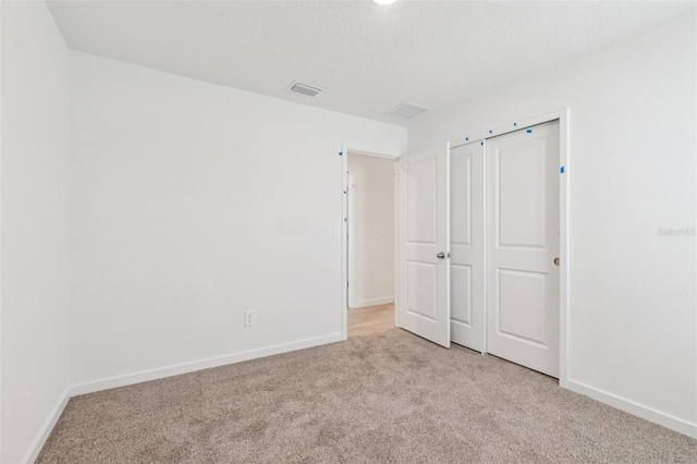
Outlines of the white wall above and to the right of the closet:
[[571,387],[697,436],[695,14],[409,126],[409,151],[568,107]]

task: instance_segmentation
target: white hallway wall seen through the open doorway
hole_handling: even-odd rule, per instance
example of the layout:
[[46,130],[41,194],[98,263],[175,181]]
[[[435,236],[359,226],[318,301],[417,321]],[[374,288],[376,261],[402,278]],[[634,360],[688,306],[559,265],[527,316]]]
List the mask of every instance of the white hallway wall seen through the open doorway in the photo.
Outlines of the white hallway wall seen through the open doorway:
[[[394,164],[348,155],[348,306],[394,302]],[[353,233],[353,235],[352,235]]]

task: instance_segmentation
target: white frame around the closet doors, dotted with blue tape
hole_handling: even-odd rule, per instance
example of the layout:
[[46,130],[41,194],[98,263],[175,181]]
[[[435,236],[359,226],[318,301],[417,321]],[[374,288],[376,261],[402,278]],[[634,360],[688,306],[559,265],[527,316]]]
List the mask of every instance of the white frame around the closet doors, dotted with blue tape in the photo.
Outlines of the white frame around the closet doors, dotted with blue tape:
[[[461,145],[481,141],[486,146],[487,138],[521,131],[534,125],[559,121],[559,386],[568,388],[568,130],[570,110],[560,108],[533,118],[517,120],[512,123],[492,125],[491,129],[466,135],[450,142],[451,149]],[[486,171],[486,170],[485,170]],[[485,172],[486,173],[486,172]],[[486,175],[485,175],[486,178]],[[485,179],[486,188],[486,179]],[[485,243],[486,253],[486,243]],[[485,258],[486,259],[486,258]],[[485,286],[488,285],[485,276]],[[485,305],[486,294],[485,294]],[[485,321],[486,331],[486,321]],[[486,338],[485,338],[486,340]],[[485,342],[486,350],[486,342]]]

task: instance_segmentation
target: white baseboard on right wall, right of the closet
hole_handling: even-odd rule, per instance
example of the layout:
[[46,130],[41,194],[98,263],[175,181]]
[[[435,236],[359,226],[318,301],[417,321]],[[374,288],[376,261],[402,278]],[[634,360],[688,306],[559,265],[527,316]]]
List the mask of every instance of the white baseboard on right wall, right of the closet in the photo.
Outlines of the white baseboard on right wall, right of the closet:
[[624,398],[598,390],[575,380],[570,379],[567,388],[573,392],[585,394],[586,396],[641,417],[643,419],[662,425],[663,427],[684,434],[688,437],[697,438],[697,424],[690,424],[687,420],[671,416],[670,414],[661,413],[660,411],[625,400]]

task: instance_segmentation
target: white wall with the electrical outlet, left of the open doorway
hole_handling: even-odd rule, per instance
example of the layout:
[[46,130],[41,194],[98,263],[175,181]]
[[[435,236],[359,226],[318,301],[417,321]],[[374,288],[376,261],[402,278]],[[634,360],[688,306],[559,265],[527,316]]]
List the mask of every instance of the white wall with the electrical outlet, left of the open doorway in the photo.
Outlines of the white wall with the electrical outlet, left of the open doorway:
[[77,52],[72,73],[77,391],[340,340],[341,144],[400,155],[404,127]]

